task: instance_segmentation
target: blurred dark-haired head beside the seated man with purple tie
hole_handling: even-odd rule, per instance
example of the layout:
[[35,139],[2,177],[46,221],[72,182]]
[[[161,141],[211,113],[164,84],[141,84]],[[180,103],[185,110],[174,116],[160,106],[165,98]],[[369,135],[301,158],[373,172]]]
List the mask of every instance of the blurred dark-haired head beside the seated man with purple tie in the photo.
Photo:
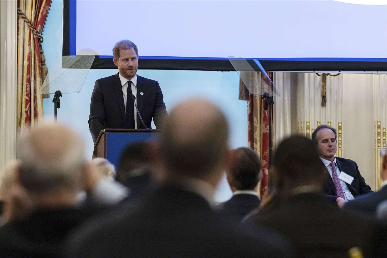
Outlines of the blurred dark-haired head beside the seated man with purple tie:
[[303,136],[291,136],[277,147],[273,159],[276,190],[291,186],[322,185],[325,166],[317,146]]

